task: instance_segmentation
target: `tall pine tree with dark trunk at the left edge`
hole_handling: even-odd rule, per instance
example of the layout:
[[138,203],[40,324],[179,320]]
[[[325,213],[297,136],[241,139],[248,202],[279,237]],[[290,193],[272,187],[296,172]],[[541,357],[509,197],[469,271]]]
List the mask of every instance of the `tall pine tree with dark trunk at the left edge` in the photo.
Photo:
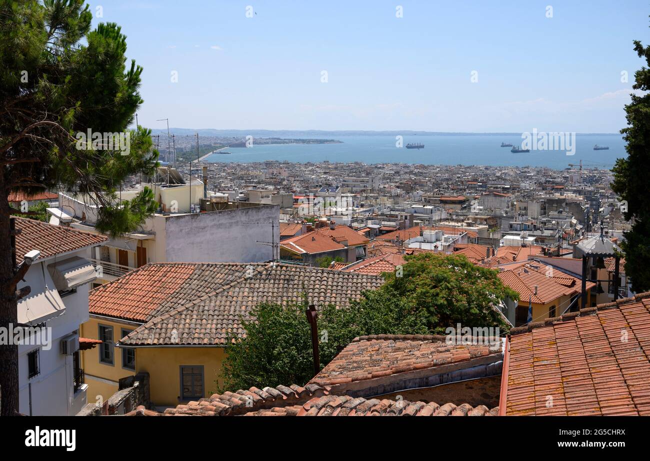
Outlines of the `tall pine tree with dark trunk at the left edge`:
[[[151,132],[127,132],[130,149],[80,133],[123,133],[142,103],[142,68],[126,66],[126,38],[114,23],[90,30],[83,0],[0,0],[0,327],[17,322],[16,291],[27,266],[10,246],[11,191],[86,195],[99,206],[98,229],[135,230],[155,208],[144,191],[120,208],[116,190],[129,176],[153,173]],[[90,141],[90,140],[88,140]],[[94,141],[94,140],[93,140]],[[123,147],[121,145],[120,147]],[[18,409],[18,348],[0,347],[0,414]]]

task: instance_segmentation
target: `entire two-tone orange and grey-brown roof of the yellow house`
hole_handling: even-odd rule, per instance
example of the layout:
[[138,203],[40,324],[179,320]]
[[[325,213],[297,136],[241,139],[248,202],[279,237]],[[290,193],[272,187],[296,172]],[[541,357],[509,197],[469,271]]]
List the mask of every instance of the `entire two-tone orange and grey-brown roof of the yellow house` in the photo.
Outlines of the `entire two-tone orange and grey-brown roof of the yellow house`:
[[120,341],[127,345],[225,345],[230,333],[244,336],[240,318],[254,306],[298,303],[303,284],[311,303],[347,306],[383,279],[292,264],[149,264],[92,292],[90,312],[146,321]]

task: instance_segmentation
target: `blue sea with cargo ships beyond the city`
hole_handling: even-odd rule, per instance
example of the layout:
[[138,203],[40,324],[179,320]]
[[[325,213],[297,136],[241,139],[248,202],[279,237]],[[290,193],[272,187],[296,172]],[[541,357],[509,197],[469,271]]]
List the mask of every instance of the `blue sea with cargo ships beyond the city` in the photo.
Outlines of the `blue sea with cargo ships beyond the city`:
[[[283,136],[284,137],[284,136]],[[289,137],[289,136],[287,136]],[[229,155],[213,154],[205,162],[363,162],[365,164],[407,163],[465,166],[535,166],[552,169],[579,164],[583,168],[609,169],[616,159],[626,157],[621,134],[576,134],[575,153],[566,150],[531,150],[530,153],[512,153],[501,143],[522,145],[521,134],[432,134],[402,137],[402,145],[424,144],[423,149],[397,147],[396,136],[328,135],[300,136],[300,138],[335,139],[331,144],[266,144],[251,147],[228,147]],[[608,150],[594,151],[593,146],[607,146]]]

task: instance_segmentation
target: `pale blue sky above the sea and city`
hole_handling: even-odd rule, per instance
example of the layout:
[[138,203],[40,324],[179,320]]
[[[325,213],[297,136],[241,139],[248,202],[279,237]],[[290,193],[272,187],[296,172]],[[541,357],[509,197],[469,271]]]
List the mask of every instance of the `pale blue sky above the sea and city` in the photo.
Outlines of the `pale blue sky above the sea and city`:
[[144,68],[153,129],[618,132],[650,44],[636,0],[88,4]]

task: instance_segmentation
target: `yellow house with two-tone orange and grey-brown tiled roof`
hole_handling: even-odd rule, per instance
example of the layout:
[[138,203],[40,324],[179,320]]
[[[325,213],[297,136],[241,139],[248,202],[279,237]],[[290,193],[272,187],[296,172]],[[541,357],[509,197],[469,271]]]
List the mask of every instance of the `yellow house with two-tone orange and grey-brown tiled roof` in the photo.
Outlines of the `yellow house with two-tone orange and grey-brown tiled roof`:
[[106,401],[120,378],[140,372],[149,373],[158,408],[211,395],[227,337],[242,337],[240,319],[257,304],[300,303],[306,288],[310,302],[346,306],[382,284],[375,275],[290,264],[147,264],[90,293],[83,335],[103,343],[83,353],[88,395]]

